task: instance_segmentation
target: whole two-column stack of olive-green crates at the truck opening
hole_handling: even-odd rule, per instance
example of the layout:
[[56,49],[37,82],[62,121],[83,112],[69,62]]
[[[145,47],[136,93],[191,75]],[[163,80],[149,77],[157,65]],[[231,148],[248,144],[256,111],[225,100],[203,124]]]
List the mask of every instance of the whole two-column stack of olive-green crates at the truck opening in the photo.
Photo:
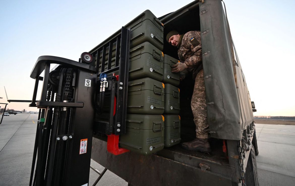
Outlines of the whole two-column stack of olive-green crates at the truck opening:
[[[178,60],[161,52],[164,26],[149,10],[125,27],[130,28],[129,77],[126,134],[120,136],[119,144],[134,152],[152,154],[164,145],[180,142],[179,89],[175,87],[179,74],[171,73],[171,65]],[[114,67],[116,43],[112,51]],[[106,61],[108,56],[107,52]],[[101,57],[96,61],[101,63]]]

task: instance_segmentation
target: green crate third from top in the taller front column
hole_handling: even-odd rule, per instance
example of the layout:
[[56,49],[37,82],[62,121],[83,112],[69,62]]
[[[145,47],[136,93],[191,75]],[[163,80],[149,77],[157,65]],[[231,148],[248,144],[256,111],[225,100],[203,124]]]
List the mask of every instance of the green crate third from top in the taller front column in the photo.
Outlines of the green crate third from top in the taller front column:
[[163,114],[164,84],[151,78],[128,82],[127,113]]

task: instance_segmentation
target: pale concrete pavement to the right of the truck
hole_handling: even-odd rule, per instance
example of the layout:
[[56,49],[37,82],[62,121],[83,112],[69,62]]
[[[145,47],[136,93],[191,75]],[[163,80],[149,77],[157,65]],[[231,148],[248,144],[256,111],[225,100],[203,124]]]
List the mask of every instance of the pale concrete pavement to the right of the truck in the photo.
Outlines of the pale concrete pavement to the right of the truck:
[[295,185],[295,125],[256,124],[260,186]]

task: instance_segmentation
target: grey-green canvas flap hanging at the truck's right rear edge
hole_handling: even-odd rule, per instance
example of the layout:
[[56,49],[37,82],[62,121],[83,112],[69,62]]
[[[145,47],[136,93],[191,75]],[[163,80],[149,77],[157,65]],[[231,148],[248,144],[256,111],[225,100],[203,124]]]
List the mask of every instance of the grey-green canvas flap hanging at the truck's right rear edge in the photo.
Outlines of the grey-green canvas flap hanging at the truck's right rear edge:
[[[220,0],[199,4],[207,120],[210,135],[241,140],[240,106],[232,65],[227,21]],[[204,12],[204,11],[203,11]],[[207,32],[207,30],[209,32]]]

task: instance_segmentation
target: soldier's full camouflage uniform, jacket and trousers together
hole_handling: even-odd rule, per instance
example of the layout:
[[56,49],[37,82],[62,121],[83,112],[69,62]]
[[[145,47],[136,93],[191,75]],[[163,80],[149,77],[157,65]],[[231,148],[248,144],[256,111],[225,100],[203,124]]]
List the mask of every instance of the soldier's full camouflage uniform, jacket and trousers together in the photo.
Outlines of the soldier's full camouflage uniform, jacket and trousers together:
[[187,65],[195,79],[194,92],[191,97],[191,110],[196,124],[196,137],[209,138],[200,31],[187,32],[181,36],[180,43],[181,45],[178,46],[179,60]]

